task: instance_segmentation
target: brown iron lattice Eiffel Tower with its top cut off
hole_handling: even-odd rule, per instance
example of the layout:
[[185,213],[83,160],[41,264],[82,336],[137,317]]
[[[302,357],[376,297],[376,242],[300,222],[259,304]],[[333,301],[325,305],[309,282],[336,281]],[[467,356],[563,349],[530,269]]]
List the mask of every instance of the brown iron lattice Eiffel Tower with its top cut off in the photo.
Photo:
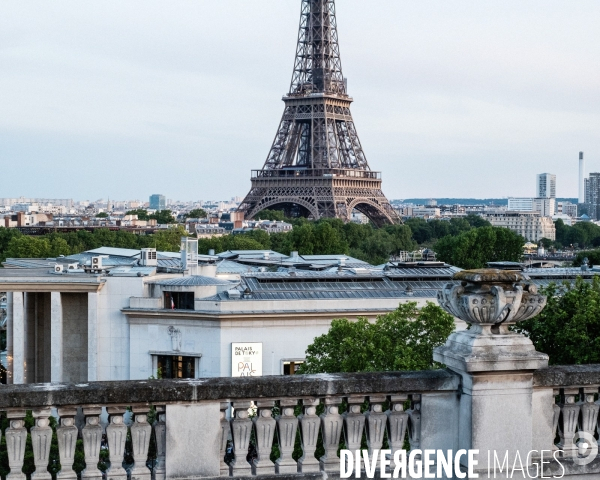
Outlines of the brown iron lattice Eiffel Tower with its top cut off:
[[294,74],[275,140],[239,210],[264,209],[288,217],[341,218],[354,209],[375,225],[400,219],[369,168],[346,92],[335,0],[302,0]]

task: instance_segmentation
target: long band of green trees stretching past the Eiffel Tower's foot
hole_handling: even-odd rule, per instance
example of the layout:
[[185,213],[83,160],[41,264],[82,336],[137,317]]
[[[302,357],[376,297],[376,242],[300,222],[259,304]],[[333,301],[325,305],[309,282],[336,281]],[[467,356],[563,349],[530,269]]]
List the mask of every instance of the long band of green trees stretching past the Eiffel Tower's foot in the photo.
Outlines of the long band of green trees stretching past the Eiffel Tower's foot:
[[[263,213],[263,212],[261,212]],[[280,212],[263,213],[278,219]],[[282,217],[281,217],[282,218]],[[489,261],[518,261],[524,240],[503,228],[491,227],[479,217],[468,216],[450,221],[410,219],[404,225],[374,228],[371,224],[344,223],[339,219],[310,221],[287,219],[293,228],[285,233],[268,234],[253,230],[235,235],[199,239],[198,251],[274,250],[285,255],[349,255],[372,265],[389,261],[402,251],[433,247],[438,259],[461,268],[482,268]],[[187,235],[182,226],[151,235],[98,229],[69,233],[27,236],[17,229],[0,228],[0,261],[6,258],[53,258],[72,255],[98,247],[141,249],[155,247],[179,251],[180,237]]]

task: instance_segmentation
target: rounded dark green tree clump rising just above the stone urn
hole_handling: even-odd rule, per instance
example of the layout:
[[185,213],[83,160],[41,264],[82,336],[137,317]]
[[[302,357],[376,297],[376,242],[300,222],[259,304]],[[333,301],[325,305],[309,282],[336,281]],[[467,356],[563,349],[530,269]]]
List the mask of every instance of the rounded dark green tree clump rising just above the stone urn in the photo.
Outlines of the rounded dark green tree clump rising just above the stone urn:
[[436,242],[439,260],[460,268],[484,268],[488,262],[518,262],[525,240],[508,228],[481,227]]

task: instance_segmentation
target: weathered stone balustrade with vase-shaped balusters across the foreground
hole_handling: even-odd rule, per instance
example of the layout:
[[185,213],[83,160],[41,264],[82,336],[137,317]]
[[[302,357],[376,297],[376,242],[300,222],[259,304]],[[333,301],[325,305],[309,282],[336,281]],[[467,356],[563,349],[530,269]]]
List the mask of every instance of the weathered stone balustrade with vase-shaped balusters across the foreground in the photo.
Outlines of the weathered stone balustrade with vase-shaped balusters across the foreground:
[[[577,432],[593,437],[600,432],[599,386],[600,365],[550,367],[533,375],[532,446],[562,450],[567,475],[600,473],[600,459],[585,466],[568,461],[577,457]],[[77,478],[78,438],[86,463],[82,480],[103,478],[97,463],[106,447],[110,466],[104,478],[113,480],[336,478],[340,445],[370,452],[384,446],[392,451],[463,448],[463,388],[461,376],[449,370],[4,386],[0,411],[8,418],[7,478],[25,478],[27,411],[34,419],[29,429],[33,480],[51,478],[51,416],[58,417],[58,479]],[[126,470],[128,437],[133,464]],[[156,459],[150,469],[152,438]]]

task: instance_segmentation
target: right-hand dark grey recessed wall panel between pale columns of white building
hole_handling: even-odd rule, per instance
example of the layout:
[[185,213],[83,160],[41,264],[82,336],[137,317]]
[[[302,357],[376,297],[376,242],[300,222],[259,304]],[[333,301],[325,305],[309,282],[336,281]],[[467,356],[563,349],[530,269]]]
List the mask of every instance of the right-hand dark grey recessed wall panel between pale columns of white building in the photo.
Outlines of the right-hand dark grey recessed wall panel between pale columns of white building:
[[63,310],[63,381],[88,377],[88,295],[61,293]]

